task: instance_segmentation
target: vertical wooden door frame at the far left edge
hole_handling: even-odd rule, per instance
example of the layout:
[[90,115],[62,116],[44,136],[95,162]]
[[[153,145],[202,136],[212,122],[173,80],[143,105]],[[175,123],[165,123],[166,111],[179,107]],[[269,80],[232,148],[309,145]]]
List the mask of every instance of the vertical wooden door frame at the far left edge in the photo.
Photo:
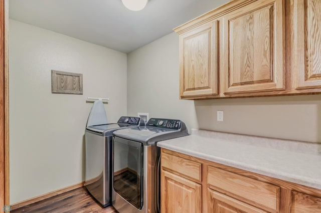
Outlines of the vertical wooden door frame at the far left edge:
[[9,0],[0,0],[0,212],[9,201]]

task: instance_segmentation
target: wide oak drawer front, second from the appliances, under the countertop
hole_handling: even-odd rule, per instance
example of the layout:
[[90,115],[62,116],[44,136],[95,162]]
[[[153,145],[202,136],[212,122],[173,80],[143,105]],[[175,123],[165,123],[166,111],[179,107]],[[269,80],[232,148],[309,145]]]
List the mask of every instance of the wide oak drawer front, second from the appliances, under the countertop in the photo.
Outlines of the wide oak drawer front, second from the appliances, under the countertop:
[[223,191],[238,199],[250,200],[275,211],[279,210],[280,187],[208,166],[210,188]]

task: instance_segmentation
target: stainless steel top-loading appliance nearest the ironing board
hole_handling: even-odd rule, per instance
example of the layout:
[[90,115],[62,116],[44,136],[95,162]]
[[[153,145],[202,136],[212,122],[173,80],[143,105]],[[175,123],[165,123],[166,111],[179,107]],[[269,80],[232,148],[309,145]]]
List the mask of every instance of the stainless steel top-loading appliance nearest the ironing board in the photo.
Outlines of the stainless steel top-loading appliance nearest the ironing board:
[[103,207],[111,204],[112,133],[138,125],[144,125],[139,117],[122,116],[117,123],[86,127],[85,186]]

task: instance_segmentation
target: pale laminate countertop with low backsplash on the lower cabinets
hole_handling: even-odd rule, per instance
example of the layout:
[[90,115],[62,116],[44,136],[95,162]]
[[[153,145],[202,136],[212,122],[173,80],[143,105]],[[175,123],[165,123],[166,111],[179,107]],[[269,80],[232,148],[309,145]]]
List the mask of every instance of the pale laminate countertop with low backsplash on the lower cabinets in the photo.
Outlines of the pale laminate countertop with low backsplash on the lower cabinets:
[[157,146],[321,189],[321,143],[192,129]]

